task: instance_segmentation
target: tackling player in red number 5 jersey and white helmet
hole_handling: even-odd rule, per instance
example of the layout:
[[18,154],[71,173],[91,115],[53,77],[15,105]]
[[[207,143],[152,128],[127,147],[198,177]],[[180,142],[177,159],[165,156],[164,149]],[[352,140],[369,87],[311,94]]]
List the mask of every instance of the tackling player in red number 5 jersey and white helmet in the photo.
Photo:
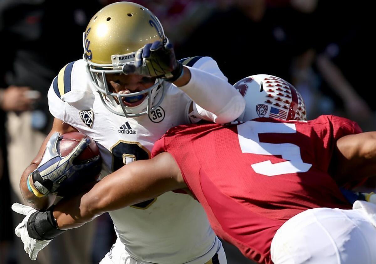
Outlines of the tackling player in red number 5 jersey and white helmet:
[[[26,214],[16,232],[40,245],[105,211],[184,189],[214,231],[258,263],[376,263],[376,205],[352,205],[340,190],[374,175],[376,133],[332,115],[305,121],[299,93],[280,78],[256,75],[235,86],[247,101],[244,123],[170,129],[152,159],[87,193],[47,212],[14,205]],[[259,93],[262,101],[247,99]],[[255,114],[262,117],[246,121]]]

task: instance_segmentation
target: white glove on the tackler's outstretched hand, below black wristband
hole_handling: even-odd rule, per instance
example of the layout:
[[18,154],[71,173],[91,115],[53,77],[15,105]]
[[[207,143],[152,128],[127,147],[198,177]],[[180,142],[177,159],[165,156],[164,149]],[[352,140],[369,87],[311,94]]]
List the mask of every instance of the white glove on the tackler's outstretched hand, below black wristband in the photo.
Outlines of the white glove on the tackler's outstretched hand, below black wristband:
[[36,260],[36,256],[38,255],[39,251],[44,249],[51,240],[37,240],[32,239],[29,237],[29,233],[27,232],[27,220],[29,220],[30,215],[36,212],[36,210],[30,206],[14,203],[12,204],[12,210],[19,214],[24,214],[25,218],[22,222],[17,225],[16,229],[14,229],[14,233],[17,237],[20,237],[22,242],[24,243],[24,250],[31,260]]

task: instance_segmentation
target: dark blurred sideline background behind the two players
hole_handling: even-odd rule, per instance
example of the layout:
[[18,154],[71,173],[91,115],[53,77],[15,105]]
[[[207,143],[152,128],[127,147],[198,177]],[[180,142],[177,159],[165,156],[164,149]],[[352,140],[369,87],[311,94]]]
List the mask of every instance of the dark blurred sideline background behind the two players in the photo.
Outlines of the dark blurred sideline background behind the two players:
[[[51,126],[50,83],[82,57],[86,24],[113,2],[0,0],[0,263],[31,263],[13,233],[20,216],[10,204],[21,201],[20,175]],[[159,18],[178,58],[211,56],[231,84],[253,74],[276,75],[302,94],[308,119],[335,114],[375,130],[368,1],[134,2]],[[77,236],[51,243],[33,263],[99,263],[114,242],[111,220],[103,215]],[[252,263],[232,246],[225,250],[229,264]]]

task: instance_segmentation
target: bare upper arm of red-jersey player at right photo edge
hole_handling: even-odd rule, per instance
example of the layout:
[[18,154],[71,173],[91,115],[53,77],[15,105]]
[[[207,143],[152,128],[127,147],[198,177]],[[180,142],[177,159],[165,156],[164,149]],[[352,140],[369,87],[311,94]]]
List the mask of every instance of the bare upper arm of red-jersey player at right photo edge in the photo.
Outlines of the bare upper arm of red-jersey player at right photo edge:
[[376,132],[343,136],[337,141],[334,157],[340,186],[354,179],[353,175],[359,180],[376,175]]

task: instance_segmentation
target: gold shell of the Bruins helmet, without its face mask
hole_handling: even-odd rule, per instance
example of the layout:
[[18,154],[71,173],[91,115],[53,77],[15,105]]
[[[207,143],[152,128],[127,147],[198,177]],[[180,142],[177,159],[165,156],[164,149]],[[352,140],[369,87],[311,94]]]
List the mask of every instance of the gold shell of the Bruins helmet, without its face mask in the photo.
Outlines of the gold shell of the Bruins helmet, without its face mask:
[[130,2],[103,7],[85,30],[85,57],[111,64],[111,55],[128,54],[156,40],[166,41],[158,18],[149,9]]

